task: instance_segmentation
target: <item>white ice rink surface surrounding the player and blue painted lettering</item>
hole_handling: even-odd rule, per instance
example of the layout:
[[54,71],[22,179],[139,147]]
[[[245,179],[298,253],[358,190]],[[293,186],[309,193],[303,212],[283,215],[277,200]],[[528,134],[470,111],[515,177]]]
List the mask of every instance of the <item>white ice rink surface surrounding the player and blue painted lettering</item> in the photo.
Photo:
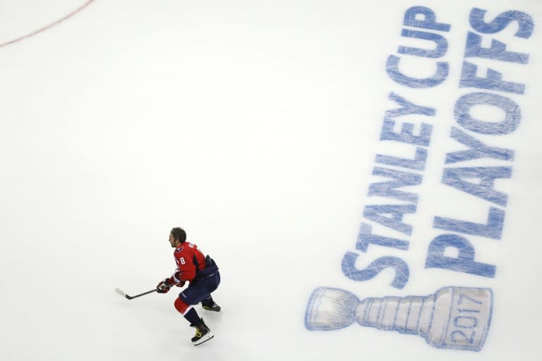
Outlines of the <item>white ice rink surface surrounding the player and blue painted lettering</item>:
[[[0,44],[86,2],[2,1]],[[411,45],[401,37],[411,6],[452,25],[440,59],[450,75],[432,89],[398,85],[385,71],[387,57]],[[511,96],[521,125],[483,138],[515,151],[512,178],[495,183],[508,195],[502,239],[469,238],[476,259],[496,265],[494,278],[424,268],[442,233],[433,216],[487,217],[488,202],[440,183],[445,154],[463,149],[449,134],[466,92],[459,77],[474,7],[534,20],[529,39],[512,26],[495,35],[530,59],[495,67],[526,84]],[[95,0],[0,47],[0,359],[541,360],[541,29],[538,0]],[[359,265],[402,257],[402,290],[390,286],[392,269],[365,282],[341,270],[373,202],[375,154],[414,154],[379,142],[392,91],[437,109],[423,184],[412,189],[409,250],[371,245]],[[175,293],[114,292],[143,293],[171,274],[172,226],[222,274],[214,296],[223,312],[200,312],[215,338],[198,348]],[[495,293],[479,353],[356,324],[303,324],[318,286],[366,298],[453,285]]]

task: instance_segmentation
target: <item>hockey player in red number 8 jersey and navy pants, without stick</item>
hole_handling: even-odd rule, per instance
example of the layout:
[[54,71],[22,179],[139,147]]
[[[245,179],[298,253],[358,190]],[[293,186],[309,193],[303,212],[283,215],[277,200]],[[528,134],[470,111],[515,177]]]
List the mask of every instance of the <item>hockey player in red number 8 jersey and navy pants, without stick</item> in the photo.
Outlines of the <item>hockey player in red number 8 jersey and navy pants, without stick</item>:
[[189,282],[188,287],[179,293],[174,305],[190,322],[190,326],[195,327],[192,343],[199,345],[213,338],[213,334],[193,305],[201,302],[205,310],[220,311],[220,306],[211,297],[212,291],[216,290],[220,283],[218,267],[197,245],[186,242],[186,232],[182,228],[171,229],[169,243],[175,248],[173,255],[177,268],[171,277],[158,283],[156,289],[158,293],[167,293],[172,286],[183,287],[186,281]]

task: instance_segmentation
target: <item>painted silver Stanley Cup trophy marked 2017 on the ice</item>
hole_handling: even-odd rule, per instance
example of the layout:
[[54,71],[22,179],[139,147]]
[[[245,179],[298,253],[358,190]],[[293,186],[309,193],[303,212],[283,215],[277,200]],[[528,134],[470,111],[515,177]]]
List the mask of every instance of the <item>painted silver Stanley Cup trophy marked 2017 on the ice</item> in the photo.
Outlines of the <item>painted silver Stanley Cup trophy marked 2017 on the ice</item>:
[[417,334],[438,348],[479,351],[488,334],[490,288],[446,287],[433,295],[366,298],[339,288],[316,288],[308,301],[305,326],[330,331],[361,326]]

